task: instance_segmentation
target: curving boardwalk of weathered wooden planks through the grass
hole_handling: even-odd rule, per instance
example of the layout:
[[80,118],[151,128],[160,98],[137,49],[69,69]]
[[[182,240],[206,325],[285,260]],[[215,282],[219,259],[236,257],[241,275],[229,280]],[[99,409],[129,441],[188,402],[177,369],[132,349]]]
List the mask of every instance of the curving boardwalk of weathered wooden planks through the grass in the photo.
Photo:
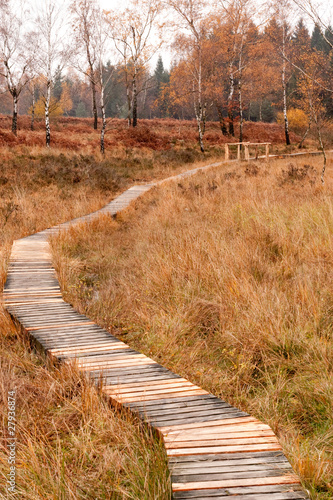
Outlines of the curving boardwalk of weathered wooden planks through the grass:
[[268,425],[131,349],[62,299],[49,234],[99,213],[115,215],[153,185],[134,186],[94,214],[15,241],[6,308],[51,356],[76,363],[96,384],[102,379],[103,391],[114,403],[158,430],[169,459],[173,498],[306,499]]

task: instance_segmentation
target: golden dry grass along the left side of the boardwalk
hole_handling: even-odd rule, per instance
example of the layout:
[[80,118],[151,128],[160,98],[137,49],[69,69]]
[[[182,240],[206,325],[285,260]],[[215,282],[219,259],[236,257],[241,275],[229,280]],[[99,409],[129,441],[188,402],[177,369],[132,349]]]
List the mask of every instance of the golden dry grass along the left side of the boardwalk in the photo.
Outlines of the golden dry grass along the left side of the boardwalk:
[[[197,158],[185,150],[161,151],[155,165],[150,150],[110,152],[105,158],[22,145],[0,152],[1,283],[13,239],[94,211],[134,182],[166,177]],[[3,436],[7,390],[18,389],[20,498],[169,497],[165,452],[147,429],[115,413],[77,373],[52,366],[31,350],[3,308],[0,338]],[[4,444],[1,498],[6,498],[9,471]]]

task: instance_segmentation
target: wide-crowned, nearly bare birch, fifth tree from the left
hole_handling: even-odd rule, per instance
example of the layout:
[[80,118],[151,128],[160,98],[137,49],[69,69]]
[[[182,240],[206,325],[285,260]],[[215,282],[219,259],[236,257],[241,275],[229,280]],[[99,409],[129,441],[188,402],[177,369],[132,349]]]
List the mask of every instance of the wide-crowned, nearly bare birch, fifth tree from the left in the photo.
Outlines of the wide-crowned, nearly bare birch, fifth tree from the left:
[[[127,9],[116,15],[107,13],[109,32],[122,59],[127,121],[133,127],[138,122],[138,96],[147,89],[146,79],[142,77],[147,73],[149,61],[161,47],[160,41],[152,41],[152,35],[155,34],[156,38],[158,28],[161,27],[157,23],[160,10],[159,0],[143,0],[140,3],[132,2]],[[141,85],[140,78],[143,80]]]

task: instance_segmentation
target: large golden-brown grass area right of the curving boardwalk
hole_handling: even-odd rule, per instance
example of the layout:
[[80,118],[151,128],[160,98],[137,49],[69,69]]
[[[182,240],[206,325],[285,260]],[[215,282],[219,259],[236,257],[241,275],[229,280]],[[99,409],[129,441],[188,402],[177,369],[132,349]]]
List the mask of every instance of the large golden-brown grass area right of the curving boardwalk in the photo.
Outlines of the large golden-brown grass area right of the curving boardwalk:
[[223,166],[53,239],[65,297],[271,425],[333,495],[333,177],[320,159]]

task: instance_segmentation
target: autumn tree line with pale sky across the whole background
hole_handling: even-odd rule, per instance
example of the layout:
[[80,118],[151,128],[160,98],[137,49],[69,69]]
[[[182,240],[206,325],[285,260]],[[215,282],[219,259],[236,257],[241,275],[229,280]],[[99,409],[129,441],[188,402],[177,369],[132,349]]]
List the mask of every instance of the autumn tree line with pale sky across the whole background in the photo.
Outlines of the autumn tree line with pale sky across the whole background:
[[[312,21],[311,32],[309,20]],[[168,40],[173,62],[161,56]],[[165,49],[164,49],[165,50]],[[303,124],[304,138],[333,115],[333,33],[311,0],[144,0],[121,11],[98,0],[0,0],[0,111],[93,118],[101,151],[107,119],[195,119],[201,150],[207,120],[243,139],[244,120]]]

